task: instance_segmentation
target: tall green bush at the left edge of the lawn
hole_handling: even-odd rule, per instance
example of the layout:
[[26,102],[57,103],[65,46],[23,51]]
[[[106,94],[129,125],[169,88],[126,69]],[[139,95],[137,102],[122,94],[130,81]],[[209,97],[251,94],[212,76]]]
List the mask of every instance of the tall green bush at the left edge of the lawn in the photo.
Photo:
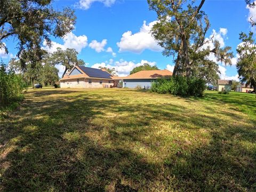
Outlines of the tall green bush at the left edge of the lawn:
[[20,101],[22,90],[26,88],[26,83],[20,75],[7,71],[6,66],[0,65],[0,108],[10,106],[16,101]]

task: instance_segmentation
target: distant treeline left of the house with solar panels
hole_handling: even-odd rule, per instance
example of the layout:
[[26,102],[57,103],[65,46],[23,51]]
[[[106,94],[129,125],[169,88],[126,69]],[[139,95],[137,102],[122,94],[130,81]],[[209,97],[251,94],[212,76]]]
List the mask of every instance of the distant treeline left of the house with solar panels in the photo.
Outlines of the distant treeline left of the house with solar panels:
[[[59,81],[59,70],[55,67],[56,65],[65,67],[63,75],[74,65],[84,65],[83,60],[77,59],[77,54],[75,49],[62,50],[58,48],[53,53],[44,51],[41,60],[35,61],[33,58],[26,57],[27,54],[24,52],[19,60],[11,59],[9,67],[15,73],[20,74],[23,81],[29,86],[36,83],[43,86],[53,86]],[[25,61],[25,63],[22,63],[22,61]]]

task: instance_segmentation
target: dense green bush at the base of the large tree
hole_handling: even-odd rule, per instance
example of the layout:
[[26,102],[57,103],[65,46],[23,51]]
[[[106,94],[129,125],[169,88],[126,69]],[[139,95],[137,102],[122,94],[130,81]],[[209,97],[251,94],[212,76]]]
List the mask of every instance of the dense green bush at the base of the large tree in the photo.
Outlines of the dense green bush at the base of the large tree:
[[153,82],[151,91],[162,94],[180,96],[202,97],[205,89],[205,81],[200,78],[186,78],[182,76],[159,78]]

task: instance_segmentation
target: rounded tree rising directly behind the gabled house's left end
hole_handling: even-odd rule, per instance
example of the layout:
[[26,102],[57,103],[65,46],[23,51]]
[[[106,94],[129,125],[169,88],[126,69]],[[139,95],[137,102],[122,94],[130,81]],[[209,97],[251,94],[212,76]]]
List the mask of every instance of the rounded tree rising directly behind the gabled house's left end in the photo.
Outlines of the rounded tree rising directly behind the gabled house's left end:
[[67,70],[71,69],[74,65],[84,65],[84,61],[82,59],[77,59],[77,54],[75,49],[62,50],[61,48],[57,48],[57,51],[52,53],[51,59],[55,64],[61,64],[65,66],[65,71],[62,77],[67,73]]

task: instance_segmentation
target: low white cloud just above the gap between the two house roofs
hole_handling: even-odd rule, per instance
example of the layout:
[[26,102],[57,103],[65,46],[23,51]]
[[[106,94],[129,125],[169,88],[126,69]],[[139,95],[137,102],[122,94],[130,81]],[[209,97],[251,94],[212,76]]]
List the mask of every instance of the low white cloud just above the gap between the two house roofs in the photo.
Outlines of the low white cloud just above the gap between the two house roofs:
[[109,60],[109,63],[107,62],[101,62],[101,63],[95,63],[92,68],[99,68],[99,67],[107,67],[107,68],[115,68],[117,70],[117,75],[120,77],[127,76],[130,74],[130,71],[138,66],[142,66],[144,63],[148,63],[150,66],[156,65],[156,62],[150,62],[147,60],[141,60],[138,63],[135,63],[133,61],[125,61],[125,60],[119,60],[116,62],[113,62],[113,60]]

